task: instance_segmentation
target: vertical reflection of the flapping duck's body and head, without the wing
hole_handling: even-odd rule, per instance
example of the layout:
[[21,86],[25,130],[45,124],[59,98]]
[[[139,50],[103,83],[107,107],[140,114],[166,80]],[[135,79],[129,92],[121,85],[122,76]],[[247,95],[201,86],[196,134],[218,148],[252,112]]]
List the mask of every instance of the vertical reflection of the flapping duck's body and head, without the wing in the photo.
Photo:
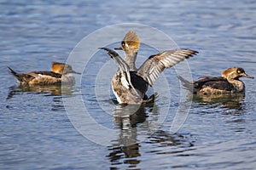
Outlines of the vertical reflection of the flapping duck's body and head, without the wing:
[[129,167],[137,167],[140,162],[137,157],[141,156],[139,152],[140,144],[137,139],[137,126],[146,124],[147,131],[147,111],[157,109],[152,105],[116,105],[113,111],[113,122],[115,128],[119,128],[119,139],[112,141],[112,146],[108,150],[111,153],[108,155],[111,164],[118,165],[119,161],[125,159],[123,163]]

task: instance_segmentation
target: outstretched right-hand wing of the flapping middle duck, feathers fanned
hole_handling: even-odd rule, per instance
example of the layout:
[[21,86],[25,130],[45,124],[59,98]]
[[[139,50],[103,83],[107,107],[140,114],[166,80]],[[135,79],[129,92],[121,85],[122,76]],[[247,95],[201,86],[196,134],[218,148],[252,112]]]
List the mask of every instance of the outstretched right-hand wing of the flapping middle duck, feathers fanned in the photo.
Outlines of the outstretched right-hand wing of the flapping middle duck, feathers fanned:
[[183,61],[183,59],[188,59],[197,53],[197,51],[190,49],[174,49],[151,55],[137,70],[137,75],[143,77],[152,86],[156,78],[166,68],[170,68]]

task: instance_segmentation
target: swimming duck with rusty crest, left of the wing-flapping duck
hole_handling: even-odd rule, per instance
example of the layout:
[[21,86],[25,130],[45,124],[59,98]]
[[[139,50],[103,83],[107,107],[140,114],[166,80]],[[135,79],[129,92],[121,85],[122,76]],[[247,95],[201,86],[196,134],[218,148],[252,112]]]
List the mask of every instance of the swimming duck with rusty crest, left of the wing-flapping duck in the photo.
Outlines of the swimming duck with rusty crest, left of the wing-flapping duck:
[[[9,68],[9,67],[8,67]],[[9,68],[10,73],[15,77],[19,85],[56,85],[74,84],[75,79],[71,73],[80,74],[73,71],[71,65],[53,62],[51,71],[31,71],[27,73],[17,73]]]

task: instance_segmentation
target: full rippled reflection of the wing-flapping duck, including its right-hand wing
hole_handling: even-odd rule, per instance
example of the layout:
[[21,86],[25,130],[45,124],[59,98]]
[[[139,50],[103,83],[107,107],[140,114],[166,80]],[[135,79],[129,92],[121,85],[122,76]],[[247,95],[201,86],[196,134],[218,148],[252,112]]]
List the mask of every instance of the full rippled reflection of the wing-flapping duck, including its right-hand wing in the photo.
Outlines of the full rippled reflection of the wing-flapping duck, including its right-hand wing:
[[[157,105],[116,105],[113,111],[113,123],[119,129],[119,139],[113,140],[112,145],[108,146],[108,154],[111,162],[111,169],[125,166],[137,168],[141,162],[141,144],[157,144],[156,150],[149,150],[150,153],[158,154],[177,154],[182,153],[194,144],[180,134],[170,134],[166,131],[156,129],[154,122],[148,121],[148,116],[158,113]],[[154,130],[154,131],[153,131]],[[141,141],[140,136],[147,135]],[[171,147],[170,150],[159,150],[161,146]],[[172,147],[173,150],[172,150]],[[178,147],[182,149],[177,149]]]

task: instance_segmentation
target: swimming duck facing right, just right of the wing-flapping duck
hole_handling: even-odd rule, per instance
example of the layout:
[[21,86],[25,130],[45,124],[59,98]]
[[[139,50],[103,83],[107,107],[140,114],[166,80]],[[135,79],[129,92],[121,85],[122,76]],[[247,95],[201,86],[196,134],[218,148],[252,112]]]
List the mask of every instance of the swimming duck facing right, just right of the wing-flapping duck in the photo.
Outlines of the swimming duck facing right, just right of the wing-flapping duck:
[[240,77],[253,78],[245,73],[241,67],[232,67],[222,72],[222,77],[199,77],[198,80],[189,82],[183,77],[177,78],[192,94],[234,94],[245,93],[244,82]]

